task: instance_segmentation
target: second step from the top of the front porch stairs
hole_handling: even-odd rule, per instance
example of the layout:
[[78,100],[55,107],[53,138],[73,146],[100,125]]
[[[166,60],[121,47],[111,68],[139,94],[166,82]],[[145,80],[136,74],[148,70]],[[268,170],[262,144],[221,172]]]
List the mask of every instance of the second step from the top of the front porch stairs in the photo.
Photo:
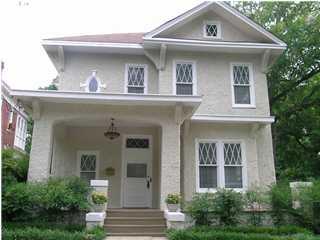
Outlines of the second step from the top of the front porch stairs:
[[107,225],[166,225],[163,217],[107,217]]

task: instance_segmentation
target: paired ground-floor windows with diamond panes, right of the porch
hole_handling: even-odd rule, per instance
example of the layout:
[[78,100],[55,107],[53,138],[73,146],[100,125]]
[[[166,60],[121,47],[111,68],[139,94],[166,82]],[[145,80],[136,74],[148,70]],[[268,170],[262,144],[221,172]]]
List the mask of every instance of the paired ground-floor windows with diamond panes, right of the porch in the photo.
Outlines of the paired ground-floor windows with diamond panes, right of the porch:
[[239,141],[197,140],[198,192],[245,188],[243,144]]

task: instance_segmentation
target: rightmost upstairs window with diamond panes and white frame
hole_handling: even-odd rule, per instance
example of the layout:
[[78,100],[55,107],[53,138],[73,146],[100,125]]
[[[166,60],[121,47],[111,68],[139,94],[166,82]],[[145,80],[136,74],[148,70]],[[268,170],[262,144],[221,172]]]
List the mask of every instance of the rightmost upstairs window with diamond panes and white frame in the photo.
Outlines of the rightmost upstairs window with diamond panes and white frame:
[[234,107],[255,107],[252,64],[232,63],[232,105]]

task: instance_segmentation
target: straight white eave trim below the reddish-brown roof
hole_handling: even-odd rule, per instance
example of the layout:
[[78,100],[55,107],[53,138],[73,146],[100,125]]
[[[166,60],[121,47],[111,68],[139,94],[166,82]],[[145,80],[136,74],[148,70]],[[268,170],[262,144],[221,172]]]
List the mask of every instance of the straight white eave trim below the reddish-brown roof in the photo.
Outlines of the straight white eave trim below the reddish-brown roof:
[[43,46],[104,47],[104,48],[143,49],[142,45],[141,44],[137,44],[137,43],[101,43],[101,42],[42,40],[42,45]]

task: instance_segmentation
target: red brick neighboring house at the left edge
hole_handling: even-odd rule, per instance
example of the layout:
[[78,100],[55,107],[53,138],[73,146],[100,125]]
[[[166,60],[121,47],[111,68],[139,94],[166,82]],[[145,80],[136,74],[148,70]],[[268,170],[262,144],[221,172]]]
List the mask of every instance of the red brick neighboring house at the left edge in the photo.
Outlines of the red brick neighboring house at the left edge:
[[10,88],[1,82],[1,148],[25,151],[28,116],[10,96]]

